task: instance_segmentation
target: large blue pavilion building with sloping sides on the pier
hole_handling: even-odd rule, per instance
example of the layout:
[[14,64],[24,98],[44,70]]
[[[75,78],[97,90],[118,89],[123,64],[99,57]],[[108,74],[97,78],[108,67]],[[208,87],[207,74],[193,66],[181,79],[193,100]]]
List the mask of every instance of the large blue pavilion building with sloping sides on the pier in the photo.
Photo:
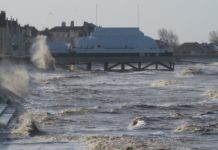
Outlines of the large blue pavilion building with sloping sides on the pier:
[[158,55],[167,51],[160,49],[157,42],[139,28],[97,27],[90,36],[79,38],[76,44],[77,53]]

